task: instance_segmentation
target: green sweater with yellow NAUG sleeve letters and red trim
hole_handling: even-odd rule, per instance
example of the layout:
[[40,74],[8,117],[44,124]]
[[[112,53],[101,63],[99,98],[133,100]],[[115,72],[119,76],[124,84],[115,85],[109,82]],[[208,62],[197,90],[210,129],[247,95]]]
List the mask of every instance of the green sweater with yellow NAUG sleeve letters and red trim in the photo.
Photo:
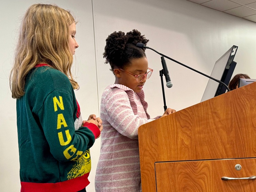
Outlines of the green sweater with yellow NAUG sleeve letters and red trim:
[[91,170],[89,148],[100,131],[92,123],[82,125],[67,76],[37,65],[16,104],[21,191],[84,189]]

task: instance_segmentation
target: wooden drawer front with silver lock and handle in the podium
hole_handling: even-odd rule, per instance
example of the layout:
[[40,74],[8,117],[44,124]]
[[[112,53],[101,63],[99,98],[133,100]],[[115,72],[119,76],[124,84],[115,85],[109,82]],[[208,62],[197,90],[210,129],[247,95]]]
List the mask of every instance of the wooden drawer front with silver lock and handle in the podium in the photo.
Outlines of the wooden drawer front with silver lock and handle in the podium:
[[[235,165],[240,164],[241,170]],[[256,159],[220,159],[155,163],[157,192],[256,191],[256,180],[222,177],[256,176]]]

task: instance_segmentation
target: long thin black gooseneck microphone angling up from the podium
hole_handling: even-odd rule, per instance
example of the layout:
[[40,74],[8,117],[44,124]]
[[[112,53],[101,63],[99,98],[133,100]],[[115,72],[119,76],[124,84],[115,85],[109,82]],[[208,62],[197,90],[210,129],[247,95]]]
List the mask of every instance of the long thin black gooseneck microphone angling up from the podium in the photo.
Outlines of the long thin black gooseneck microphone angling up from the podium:
[[227,86],[225,83],[223,83],[222,81],[220,81],[220,80],[218,80],[218,79],[215,79],[215,78],[213,78],[213,77],[211,77],[211,76],[209,76],[209,75],[206,75],[206,74],[204,74],[204,73],[202,73],[202,72],[200,72],[200,71],[198,71],[198,70],[196,70],[196,69],[193,69],[192,67],[189,67],[189,66],[187,66],[187,65],[185,65],[185,64],[183,64],[183,63],[180,63],[180,62],[178,62],[178,61],[176,61],[176,60],[174,60],[174,59],[172,59],[172,58],[170,58],[170,57],[168,57],[168,56],[166,56],[166,55],[164,55],[164,54],[162,54],[162,53],[159,53],[159,52],[156,51],[155,49],[152,49],[152,48],[150,48],[150,47],[145,46],[143,43],[137,43],[136,46],[139,47],[139,48],[151,49],[151,50],[155,51],[156,53],[162,55],[163,57],[165,57],[165,58],[167,58],[167,59],[170,59],[171,61],[174,61],[175,63],[178,63],[178,64],[180,64],[180,65],[182,65],[182,66],[184,66],[184,67],[187,67],[187,68],[191,69],[192,71],[195,71],[196,73],[199,73],[199,74],[201,74],[201,75],[203,75],[203,76],[205,76],[205,77],[208,77],[209,79],[212,79],[213,81],[216,81],[216,82],[218,82],[218,83],[224,85],[224,86],[226,87],[227,91],[230,91],[229,88],[228,88],[228,86]]

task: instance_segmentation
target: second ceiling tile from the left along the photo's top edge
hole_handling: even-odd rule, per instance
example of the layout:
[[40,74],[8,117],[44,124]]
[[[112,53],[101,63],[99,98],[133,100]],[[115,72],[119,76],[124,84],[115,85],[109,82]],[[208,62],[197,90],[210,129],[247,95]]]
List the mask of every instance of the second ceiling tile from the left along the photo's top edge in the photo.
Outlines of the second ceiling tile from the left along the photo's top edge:
[[237,3],[234,3],[228,0],[212,0],[206,3],[202,3],[201,5],[204,5],[219,11],[226,11],[226,10],[241,6]]

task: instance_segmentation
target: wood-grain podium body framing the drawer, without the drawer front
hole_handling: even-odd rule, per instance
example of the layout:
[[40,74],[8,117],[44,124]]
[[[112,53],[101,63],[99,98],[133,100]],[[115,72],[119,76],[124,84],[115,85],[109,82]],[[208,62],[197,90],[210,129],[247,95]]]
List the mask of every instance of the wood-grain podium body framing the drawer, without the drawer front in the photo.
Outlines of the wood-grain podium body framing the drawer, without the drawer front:
[[139,128],[143,192],[156,191],[155,162],[256,157],[256,83]]

